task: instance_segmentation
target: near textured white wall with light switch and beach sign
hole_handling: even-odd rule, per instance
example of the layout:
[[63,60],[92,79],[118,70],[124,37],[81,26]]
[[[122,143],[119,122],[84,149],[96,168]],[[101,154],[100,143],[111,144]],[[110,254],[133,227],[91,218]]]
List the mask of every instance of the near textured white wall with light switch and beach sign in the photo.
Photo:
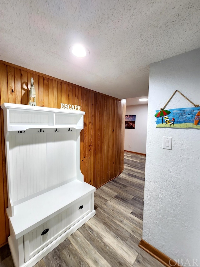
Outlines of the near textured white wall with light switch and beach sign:
[[[200,130],[156,128],[155,110],[175,90],[200,104],[200,48],[150,65],[143,239],[200,266]],[[180,94],[166,109],[192,107]],[[162,149],[163,136],[173,138]],[[189,266],[189,265],[188,265]],[[190,265],[192,266],[192,265]]]

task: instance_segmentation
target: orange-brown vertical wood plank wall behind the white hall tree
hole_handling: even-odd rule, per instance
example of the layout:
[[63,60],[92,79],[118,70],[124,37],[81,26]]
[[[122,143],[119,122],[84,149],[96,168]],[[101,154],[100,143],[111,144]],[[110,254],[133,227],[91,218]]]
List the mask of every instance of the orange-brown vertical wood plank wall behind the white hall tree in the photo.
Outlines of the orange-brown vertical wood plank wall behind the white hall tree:
[[[31,77],[37,106],[80,105],[85,111],[81,131],[81,171],[96,188],[118,176],[124,167],[125,101],[41,73],[0,61],[0,104],[28,104]],[[0,114],[0,246],[9,236],[3,110]]]

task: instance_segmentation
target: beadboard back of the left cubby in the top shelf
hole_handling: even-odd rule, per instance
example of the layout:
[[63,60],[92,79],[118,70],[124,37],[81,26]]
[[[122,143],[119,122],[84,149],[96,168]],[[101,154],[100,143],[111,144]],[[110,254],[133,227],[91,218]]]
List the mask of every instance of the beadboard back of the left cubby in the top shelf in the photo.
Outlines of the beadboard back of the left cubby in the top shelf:
[[48,113],[10,110],[10,123],[48,123]]

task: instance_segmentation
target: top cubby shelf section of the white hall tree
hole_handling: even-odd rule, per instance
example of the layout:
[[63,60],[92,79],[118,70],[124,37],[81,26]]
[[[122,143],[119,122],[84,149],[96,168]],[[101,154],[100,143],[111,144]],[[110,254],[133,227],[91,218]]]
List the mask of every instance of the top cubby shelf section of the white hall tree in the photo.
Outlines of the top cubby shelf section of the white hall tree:
[[45,108],[4,103],[7,131],[24,131],[29,128],[76,128],[83,129],[83,111]]

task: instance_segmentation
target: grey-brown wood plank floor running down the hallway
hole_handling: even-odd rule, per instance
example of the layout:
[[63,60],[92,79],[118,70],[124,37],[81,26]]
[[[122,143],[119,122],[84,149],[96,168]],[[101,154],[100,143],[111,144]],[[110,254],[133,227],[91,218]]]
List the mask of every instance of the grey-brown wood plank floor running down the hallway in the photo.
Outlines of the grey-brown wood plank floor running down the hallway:
[[[35,267],[163,267],[138,247],[142,238],[145,156],[124,154],[124,171],[94,193],[96,215]],[[13,267],[8,244],[0,266]]]

